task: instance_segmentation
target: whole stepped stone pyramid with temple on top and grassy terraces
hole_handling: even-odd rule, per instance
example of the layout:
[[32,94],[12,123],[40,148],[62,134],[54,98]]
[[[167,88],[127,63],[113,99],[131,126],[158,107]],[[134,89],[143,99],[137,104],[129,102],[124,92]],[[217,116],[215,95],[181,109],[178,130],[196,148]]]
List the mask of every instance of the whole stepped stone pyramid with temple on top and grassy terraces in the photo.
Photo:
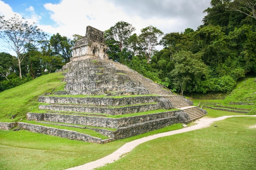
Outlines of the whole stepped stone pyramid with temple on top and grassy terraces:
[[[191,106],[193,102],[185,97],[173,95],[164,86],[109,60],[107,48],[103,32],[87,26],[85,37],[74,45],[70,62],[61,69],[66,82],[64,91],[40,96],[40,113],[27,113],[27,120],[38,121],[40,125],[16,122],[4,125],[5,129],[18,126],[32,132],[104,144],[176,123],[186,124],[207,114]],[[49,124],[85,128],[104,137]]]

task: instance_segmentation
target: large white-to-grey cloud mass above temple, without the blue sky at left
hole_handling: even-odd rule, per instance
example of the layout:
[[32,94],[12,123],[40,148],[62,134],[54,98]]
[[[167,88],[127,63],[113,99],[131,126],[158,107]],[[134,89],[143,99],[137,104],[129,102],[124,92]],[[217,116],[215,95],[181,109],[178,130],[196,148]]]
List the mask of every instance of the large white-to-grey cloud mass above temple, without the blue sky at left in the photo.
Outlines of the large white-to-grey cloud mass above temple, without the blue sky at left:
[[139,33],[153,25],[164,33],[196,29],[202,24],[203,11],[210,0],[61,0],[58,4],[44,5],[56,26],[40,28],[47,33],[69,36],[85,34],[86,26],[105,31],[118,21],[125,21]]

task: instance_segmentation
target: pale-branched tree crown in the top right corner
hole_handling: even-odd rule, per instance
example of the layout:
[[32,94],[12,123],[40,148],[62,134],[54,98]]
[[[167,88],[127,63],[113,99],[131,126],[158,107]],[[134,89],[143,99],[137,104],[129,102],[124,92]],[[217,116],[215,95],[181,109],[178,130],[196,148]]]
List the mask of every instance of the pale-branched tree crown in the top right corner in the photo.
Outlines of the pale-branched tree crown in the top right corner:
[[229,8],[256,19],[256,0],[234,0]]

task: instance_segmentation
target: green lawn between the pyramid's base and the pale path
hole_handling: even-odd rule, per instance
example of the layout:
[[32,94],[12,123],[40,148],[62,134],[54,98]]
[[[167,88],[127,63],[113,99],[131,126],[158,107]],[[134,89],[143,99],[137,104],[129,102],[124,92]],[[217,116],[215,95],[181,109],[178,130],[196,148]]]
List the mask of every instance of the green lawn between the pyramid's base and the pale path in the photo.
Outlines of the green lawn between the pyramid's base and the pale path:
[[100,159],[129,141],[182,128],[175,124],[107,144],[63,139],[26,130],[0,130],[0,170],[63,170]]

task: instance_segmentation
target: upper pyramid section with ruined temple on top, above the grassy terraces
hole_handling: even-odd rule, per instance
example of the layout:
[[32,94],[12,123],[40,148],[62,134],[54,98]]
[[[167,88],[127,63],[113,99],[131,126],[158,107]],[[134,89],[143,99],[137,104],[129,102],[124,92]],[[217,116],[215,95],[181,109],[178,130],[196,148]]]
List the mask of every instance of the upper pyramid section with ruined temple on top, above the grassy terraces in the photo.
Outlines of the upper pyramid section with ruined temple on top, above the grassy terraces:
[[127,66],[109,60],[107,48],[103,32],[87,26],[85,36],[73,47],[73,57],[61,70],[68,72],[64,73],[65,91],[60,94],[172,94]]

